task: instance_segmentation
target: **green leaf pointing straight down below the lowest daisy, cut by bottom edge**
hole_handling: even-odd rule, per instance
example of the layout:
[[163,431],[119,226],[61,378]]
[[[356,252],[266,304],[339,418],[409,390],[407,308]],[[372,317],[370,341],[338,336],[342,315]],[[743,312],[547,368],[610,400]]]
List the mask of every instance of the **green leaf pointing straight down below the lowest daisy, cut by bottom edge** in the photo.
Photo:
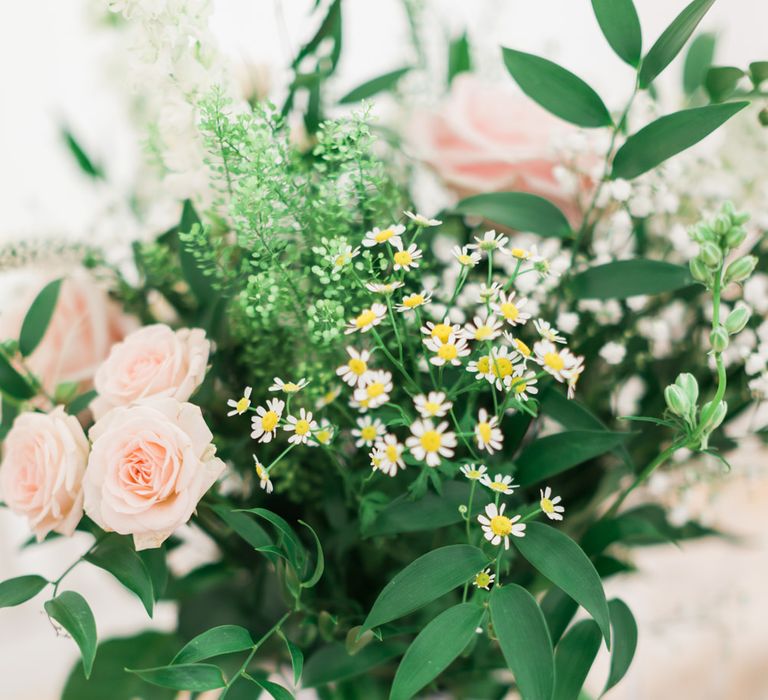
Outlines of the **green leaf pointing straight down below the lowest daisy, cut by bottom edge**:
[[523,700],[549,700],[555,686],[552,640],[535,598],[515,583],[495,586],[491,621]]

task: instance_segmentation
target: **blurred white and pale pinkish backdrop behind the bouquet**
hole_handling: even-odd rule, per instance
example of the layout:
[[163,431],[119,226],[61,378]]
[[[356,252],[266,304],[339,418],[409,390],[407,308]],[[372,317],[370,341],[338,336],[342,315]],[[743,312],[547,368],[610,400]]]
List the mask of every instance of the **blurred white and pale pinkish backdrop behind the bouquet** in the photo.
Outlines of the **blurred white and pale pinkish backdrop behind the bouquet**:
[[[345,0],[344,4],[339,95],[412,59],[400,2]],[[436,39],[466,28],[478,52],[478,65],[487,74],[503,77],[498,50],[503,44],[561,61],[594,85],[609,105],[630,89],[629,71],[600,36],[588,0],[426,4]],[[686,1],[636,4],[648,46]],[[100,223],[132,180],[141,140],[127,113],[125,87],[115,84],[108,70],[125,49],[103,24],[105,5],[94,0],[0,3],[0,243],[134,234],[106,231]],[[310,0],[220,0],[215,3],[212,27],[226,53],[241,63],[269,66],[277,83],[295,48],[313,31],[307,19],[311,5]],[[745,65],[768,58],[766,26],[765,0],[720,0],[702,28],[720,37],[718,63]],[[664,76],[662,88],[679,81],[679,72],[677,61]],[[68,124],[105,166],[110,184],[81,177],[62,143],[62,124]],[[749,453],[743,459],[750,459]],[[739,522],[720,524],[752,539],[739,548],[697,543],[686,545],[682,553],[673,548],[645,552],[639,563],[646,573],[611,584],[636,609],[643,632],[638,663],[615,697],[768,697],[761,673],[768,634],[760,624],[768,619],[763,597],[768,540],[759,537],[768,525],[760,505],[766,502],[765,484],[733,484],[721,499],[721,514],[739,513]],[[54,575],[83,549],[82,541],[75,539],[19,556],[16,547],[26,537],[24,524],[0,511],[0,579],[30,571]],[[143,611],[132,596],[101,572],[90,569],[85,574],[76,572],[71,585],[92,602],[102,638],[143,625]],[[686,599],[682,591],[691,578],[699,582],[701,595]],[[663,598],[660,590],[665,592]],[[71,641],[56,638],[41,608],[40,601],[34,601],[0,614],[4,699],[58,697],[77,656]],[[155,624],[172,622],[173,610],[161,609]],[[45,673],[38,670],[40,659],[46,659]]]

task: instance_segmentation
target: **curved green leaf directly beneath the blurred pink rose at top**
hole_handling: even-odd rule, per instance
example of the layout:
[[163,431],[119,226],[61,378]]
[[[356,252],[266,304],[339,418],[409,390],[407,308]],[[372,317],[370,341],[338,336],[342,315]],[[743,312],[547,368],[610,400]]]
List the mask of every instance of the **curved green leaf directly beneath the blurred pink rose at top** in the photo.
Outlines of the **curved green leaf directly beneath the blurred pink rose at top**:
[[540,236],[570,238],[573,235],[563,212],[549,200],[527,192],[478,194],[462,199],[455,211],[466,216],[482,216],[506,228]]

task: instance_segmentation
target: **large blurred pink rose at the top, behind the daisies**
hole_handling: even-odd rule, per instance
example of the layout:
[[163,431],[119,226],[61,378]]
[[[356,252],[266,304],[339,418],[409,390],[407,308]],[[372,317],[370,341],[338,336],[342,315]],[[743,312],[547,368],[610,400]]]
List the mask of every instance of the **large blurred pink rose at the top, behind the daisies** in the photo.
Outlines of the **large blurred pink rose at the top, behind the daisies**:
[[555,141],[573,131],[511,85],[462,73],[436,109],[417,114],[411,141],[460,196],[524,191],[572,205],[557,181]]

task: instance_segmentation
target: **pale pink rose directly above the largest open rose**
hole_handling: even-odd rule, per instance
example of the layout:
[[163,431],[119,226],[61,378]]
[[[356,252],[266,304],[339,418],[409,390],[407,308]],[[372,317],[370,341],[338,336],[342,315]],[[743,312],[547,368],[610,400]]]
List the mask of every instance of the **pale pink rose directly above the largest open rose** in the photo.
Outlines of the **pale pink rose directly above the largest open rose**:
[[134,331],[112,348],[96,372],[94,416],[152,397],[186,401],[205,377],[210,350],[199,328],[174,331],[157,323]]

